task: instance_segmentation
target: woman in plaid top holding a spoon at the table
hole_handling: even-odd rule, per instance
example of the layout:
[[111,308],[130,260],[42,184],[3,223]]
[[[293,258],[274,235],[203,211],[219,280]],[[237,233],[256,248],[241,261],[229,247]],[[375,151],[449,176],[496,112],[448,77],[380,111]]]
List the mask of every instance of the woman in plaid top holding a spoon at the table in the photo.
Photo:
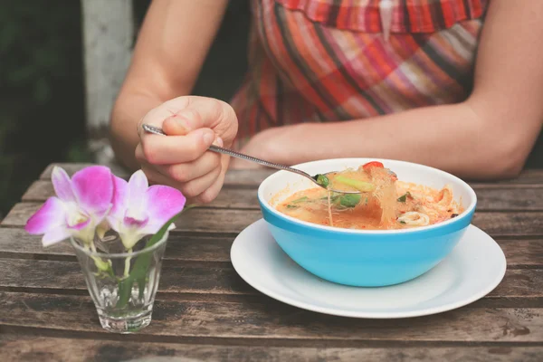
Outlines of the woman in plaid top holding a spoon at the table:
[[[543,119],[543,2],[252,0],[231,105],[189,96],[227,0],[154,0],[111,119],[120,160],[197,203],[230,167],[212,143],[297,164],[396,158],[516,176]],[[142,122],[168,137],[145,134]]]

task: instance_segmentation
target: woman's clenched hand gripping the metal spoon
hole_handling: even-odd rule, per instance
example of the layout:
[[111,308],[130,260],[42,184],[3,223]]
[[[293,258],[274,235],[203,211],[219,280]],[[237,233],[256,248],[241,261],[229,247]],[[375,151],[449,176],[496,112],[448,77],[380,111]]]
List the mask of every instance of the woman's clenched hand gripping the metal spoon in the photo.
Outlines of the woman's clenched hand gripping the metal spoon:
[[[142,123],[162,128],[167,137],[148,134]],[[209,203],[223,186],[229,159],[207,148],[231,147],[237,127],[235,113],[224,101],[178,97],[139,121],[135,156],[151,182],[176,187],[193,203]]]

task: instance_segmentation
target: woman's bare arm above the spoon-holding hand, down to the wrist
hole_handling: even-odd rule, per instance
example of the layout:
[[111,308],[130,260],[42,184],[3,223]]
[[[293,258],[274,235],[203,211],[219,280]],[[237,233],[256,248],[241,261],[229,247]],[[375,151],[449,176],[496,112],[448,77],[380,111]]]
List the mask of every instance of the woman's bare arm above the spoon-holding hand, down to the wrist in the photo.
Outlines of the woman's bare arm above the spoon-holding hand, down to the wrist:
[[149,110],[190,94],[227,0],[153,0],[114,105],[110,135],[120,161],[139,168],[137,126]]

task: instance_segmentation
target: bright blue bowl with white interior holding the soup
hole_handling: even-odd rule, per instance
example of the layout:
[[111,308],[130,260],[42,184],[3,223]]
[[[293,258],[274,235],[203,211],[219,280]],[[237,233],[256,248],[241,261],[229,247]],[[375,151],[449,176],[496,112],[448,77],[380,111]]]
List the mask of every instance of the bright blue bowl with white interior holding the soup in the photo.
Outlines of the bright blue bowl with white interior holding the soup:
[[472,222],[477,196],[460,178],[442,170],[405,161],[341,158],[296,166],[310,175],[356,168],[377,160],[406,182],[452,188],[465,211],[440,224],[403,230],[350,230],[300,221],[274,205],[302,189],[310,180],[287,171],[267,177],[258,190],[262,215],[275,241],[294,262],[320,278],[357,287],[382,287],[410,281],[452,252]]

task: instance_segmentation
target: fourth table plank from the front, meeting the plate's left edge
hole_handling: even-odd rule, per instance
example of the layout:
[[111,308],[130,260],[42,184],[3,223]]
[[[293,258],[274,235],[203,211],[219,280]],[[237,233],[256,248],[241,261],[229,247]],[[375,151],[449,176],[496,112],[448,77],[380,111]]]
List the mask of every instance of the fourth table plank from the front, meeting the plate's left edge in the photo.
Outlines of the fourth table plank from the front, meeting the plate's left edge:
[[[57,259],[75,255],[69,243],[42,246],[42,237],[30,235],[20,228],[0,229],[0,253],[13,257]],[[165,260],[190,262],[230,262],[230,247],[234,236],[195,236],[171,233],[167,243]],[[543,239],[498,239],[507,258],[508,268],[541,266],[543,268]]]

